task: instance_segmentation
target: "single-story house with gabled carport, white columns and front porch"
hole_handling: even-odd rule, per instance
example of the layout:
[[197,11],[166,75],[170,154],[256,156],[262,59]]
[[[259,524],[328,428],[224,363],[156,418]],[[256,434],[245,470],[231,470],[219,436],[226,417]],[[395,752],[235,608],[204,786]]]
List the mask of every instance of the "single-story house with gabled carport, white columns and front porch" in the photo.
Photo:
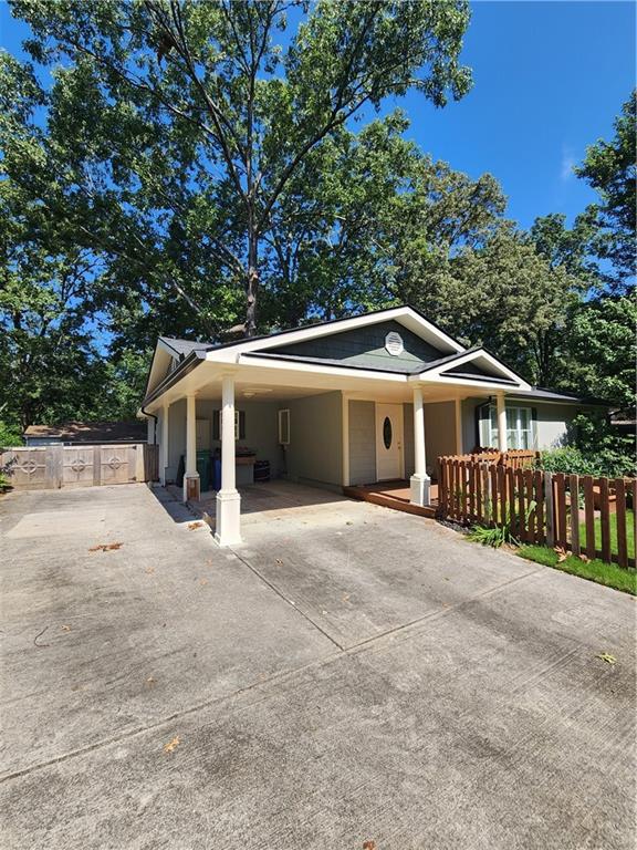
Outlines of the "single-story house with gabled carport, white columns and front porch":
[[585,406],[396,307],[223,344],[160,338],[142,412],[185,500],[200,497],[197,453],[220,456],[216,538],[231,545],[254,462],[335,490],[409,479],[425,506],[440,455],[556,446]]

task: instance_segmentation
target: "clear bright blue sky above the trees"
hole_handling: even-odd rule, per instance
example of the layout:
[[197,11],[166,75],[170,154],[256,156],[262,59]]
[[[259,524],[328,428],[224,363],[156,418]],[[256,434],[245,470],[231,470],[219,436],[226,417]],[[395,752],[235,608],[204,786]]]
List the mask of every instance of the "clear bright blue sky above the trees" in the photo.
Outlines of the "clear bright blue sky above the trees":
[[[571,172],[586,146],[609,138],[635,85],[633,2],[474,2],[463,62],[473,90],[436,110],[400,102],[409,134],[435,158],[473,177],[490,172],[523,227],[535,216],[568,220],[594,199]],[[25,29],[0,0],[0,44],[20,53]],[[389,104],[388,104],[389,105]]]

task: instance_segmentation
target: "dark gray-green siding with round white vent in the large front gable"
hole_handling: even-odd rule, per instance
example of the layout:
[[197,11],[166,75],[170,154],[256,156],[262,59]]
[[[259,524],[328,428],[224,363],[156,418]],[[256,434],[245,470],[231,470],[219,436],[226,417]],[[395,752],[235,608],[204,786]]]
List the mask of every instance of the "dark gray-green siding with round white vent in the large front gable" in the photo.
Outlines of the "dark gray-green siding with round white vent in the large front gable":
[[[405,351],[399,355],[391,355],[385,350],[385,336],[389,331],[396,331],[403,338]],[[333,333],[307,342],[282,344],[269,349],[269,353],[337,361],[343,365],[407,373],[413,372],[418,365],[446,356],[449,351],[434,348],[399,322],[391,321]]]

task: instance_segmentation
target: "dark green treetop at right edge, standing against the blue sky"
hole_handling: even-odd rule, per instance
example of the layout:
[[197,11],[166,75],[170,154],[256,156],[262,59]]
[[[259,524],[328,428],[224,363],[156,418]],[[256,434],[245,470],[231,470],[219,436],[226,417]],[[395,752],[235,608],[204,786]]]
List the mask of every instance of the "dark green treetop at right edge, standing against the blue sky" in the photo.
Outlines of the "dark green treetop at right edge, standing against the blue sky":
[[635,232],[637,228],[637,90],[615,120],[615,136],[599,139],[586,151],[575,174],[599,193],[599,203],[589,207],[597,234],[593,249],[610,263],[606,282],[625,291],[635,282]]

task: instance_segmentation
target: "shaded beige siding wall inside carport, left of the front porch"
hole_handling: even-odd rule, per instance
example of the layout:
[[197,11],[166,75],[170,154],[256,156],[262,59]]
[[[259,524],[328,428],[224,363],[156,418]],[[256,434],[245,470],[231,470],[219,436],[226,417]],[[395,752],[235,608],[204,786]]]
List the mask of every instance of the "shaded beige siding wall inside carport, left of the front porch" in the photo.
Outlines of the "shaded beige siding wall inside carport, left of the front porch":
[[[340,392],[293,398],[290,445],[291,480],[338,488],[343,481],[343,402]],[[280,405],[283,406],[283,405]]]

